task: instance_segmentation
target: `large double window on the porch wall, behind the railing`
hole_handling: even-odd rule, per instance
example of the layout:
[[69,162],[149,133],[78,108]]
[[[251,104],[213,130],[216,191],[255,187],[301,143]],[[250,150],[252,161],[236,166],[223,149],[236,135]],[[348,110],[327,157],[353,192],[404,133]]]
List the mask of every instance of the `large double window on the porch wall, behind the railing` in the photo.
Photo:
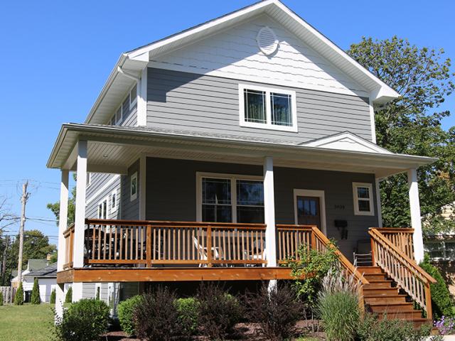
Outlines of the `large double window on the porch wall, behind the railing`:
[[[220,176],[220,175],[219,175]],[[264,222],[264,185],[241,175],[198,176],[203,222]]]

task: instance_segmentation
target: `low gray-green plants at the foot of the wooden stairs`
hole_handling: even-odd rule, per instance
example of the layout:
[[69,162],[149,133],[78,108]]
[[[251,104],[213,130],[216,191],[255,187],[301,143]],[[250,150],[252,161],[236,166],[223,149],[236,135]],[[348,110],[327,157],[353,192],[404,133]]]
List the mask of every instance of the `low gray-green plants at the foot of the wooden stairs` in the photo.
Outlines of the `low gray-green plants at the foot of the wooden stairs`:
[[[424,341],[432,330],[431,325],[422,325],[414,328],[410,321],[378,320],[372,314],[365,314],[358,325],[359,341]],[[434,339],[431,339],[434,340]]]

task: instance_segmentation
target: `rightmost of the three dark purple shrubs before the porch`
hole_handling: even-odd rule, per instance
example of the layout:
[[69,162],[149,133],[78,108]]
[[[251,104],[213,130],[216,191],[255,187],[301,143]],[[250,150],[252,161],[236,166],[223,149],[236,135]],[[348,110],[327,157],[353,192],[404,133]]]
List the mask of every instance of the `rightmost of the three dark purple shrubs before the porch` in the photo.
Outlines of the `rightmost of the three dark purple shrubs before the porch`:
[[246,317],[257,322],[267,340],[284,340],[294,333],[301,315],[301,303],[292,288],[283,284],[269,292],[264,283],[257,293],[245,295]]

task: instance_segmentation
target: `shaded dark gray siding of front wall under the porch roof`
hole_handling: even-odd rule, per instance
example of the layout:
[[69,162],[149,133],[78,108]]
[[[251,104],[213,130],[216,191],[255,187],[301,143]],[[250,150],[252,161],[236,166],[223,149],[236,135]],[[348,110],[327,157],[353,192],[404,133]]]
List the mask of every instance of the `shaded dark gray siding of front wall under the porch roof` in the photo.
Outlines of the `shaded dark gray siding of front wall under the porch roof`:
[[[196,172],[262,175],[262,167],[147,158],[146,219],[195,221]],[[378,225],[377,215],[354,215],[352,183],[374,181],[373,174],[277,167],[274,169],[276,222],[294,224],[294,188],[324,190],[328,237],[336,239],[341,251],[351,259],[357,241],[368,239],[368,227]],[[348,239],[340,239],[334,220],[347,220]]]

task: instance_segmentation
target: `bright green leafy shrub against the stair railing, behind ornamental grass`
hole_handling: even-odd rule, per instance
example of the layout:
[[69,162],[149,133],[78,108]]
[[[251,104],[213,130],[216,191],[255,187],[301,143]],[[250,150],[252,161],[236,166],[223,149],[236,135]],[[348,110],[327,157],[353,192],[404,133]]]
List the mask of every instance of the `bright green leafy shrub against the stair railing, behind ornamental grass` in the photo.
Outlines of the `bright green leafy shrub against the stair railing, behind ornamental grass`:
[[[291,275],[296,279],[294,286],[302,301],[314,307],[317,302],[321,283],[329,269],[338,269],[338,256],[333,242],[328,244],[325,251],[311,249],[307,244],[299,248],[299,261],[290,261],[283,264],[291,268]],[[304,280],[300,278],[304,277]]]

